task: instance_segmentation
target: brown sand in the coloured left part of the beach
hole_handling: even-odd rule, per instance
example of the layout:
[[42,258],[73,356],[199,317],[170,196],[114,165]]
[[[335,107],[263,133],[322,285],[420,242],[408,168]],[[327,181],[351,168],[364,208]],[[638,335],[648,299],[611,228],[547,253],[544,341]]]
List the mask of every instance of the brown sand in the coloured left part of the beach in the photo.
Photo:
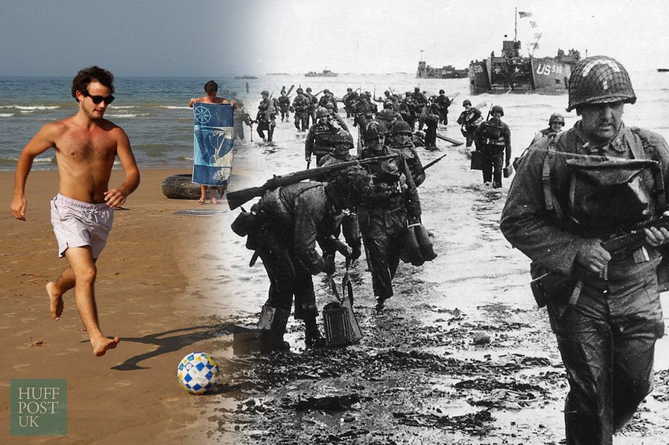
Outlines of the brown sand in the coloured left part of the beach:
[[[27,221],[13,219],[13,172],[0,173],[0,442],[3,444],[139,444],[206,439],[199,427],[197,396],[178,384],[185,354],[207,350],[218,335],[201,311],[211,285],[200,267],[215,238],[211,217],[173,215],[176,209],[221,209],[194,200],[168,200],[160,183],[167,169],[142,171],[142,183],[115,214],[97,262],[96,302],[102,332],[120,344],[94,357],[70,290],[59,321],[49,316],[44,285],[67,266],[57,258],[49,200],[57,172],[32,172],[27,181]],[[122,181],[113,172],[111,184]],[[225,202],[225,200],[223,201]],[[61,378],[68,385],[67,437],[9,436],[10,380]]]

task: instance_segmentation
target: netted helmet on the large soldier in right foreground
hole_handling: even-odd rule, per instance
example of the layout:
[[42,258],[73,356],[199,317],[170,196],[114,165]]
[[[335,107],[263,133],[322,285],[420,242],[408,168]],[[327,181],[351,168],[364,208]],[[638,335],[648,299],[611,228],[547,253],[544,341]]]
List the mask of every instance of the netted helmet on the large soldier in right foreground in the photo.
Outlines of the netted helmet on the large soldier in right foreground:
[[567,111],[580,105],[620,101],[634,103],[637,96],[632,89],[630,75],[618,60],[606,56],[592,56],[584,58],[576,65],[569,78]]

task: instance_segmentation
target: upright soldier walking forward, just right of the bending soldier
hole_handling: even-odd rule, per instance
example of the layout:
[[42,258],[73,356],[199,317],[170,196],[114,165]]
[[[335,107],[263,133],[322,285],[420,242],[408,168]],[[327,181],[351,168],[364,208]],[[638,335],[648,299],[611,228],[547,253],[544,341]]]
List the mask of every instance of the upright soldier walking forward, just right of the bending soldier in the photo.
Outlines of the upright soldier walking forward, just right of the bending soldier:
[[[387,155],[384,137],[376,125],[363,131],[367,150],[363,157]],[[358,220],[372,269],[377,309],[393,295],[392,278],[409,224],[420,221],[420,200],[404,156],[365,164],[373,180],[370,199],[358,207]]]

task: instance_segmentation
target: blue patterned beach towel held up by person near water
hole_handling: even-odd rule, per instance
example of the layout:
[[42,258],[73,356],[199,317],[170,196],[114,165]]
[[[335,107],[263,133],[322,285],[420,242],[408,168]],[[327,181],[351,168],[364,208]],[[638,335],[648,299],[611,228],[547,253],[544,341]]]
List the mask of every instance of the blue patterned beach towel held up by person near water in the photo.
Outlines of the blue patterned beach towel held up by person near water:
[[193,105],[193,183],[227,186],[232,174],[232,120],[230,104]]

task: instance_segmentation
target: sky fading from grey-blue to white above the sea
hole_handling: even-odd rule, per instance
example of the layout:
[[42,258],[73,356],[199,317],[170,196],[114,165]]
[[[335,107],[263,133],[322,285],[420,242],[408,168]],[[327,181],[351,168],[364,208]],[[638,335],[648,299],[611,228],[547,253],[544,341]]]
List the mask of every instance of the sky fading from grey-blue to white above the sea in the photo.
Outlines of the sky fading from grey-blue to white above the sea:
[[535,56],[669,67],[669,1],[1,0],[0,76],[394,73],[421,57],[464,68],[513,38],[514,8],[532,14],[518,19],[523,53],[541,33]]

